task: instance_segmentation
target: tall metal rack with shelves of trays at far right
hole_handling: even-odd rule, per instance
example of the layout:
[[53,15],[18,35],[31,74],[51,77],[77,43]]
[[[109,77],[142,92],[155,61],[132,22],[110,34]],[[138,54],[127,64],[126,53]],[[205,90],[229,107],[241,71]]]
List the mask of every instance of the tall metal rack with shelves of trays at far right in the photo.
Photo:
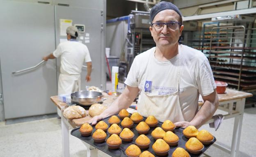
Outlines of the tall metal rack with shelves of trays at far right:
[[215,80],[243,91],[256,91],[256,29],[213,27],[208,59]]

